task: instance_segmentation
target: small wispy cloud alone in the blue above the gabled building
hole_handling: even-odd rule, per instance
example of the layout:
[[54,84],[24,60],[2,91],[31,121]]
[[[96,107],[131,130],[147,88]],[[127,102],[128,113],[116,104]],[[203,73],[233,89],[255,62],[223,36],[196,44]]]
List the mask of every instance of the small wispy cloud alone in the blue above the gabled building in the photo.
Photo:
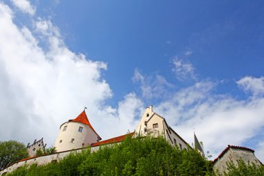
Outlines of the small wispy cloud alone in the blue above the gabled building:
[[[190,53],[188,54],[190,55]],[[172,60],[172,64],[174,66],[172,72],[174,72],[179,81],[196,79],[195,67],[193,67],[188,61],[183,61],[183,59],[176,57]]]

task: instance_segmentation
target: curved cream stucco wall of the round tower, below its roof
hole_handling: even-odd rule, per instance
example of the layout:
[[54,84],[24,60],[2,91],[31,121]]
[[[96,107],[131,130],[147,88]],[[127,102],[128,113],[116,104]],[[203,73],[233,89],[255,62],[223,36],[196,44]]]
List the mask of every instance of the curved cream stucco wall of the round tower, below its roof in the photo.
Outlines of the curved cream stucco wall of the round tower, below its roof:
[[[65,126],[67,126],[67,129],[63,131]],[[82,132],[79,132],[79,127],[83,127]],[[74,139],[74,142],[72,142],[72,139]],[[61,152],[87,147],[92,143],[96,143],[97,140],[98,135],[88,125],[81,122],[65,122],[60,127],[60,132],[54,146],[57,152]]]

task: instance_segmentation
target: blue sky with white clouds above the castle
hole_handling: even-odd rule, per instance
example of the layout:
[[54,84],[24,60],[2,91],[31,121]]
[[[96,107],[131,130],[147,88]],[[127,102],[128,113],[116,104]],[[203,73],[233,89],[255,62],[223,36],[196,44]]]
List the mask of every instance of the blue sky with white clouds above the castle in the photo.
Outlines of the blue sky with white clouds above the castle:
[[54,145],[84,109],[106,140],[149,105],[213,156],[264,161],[263,1],[0,1],[0,141]]

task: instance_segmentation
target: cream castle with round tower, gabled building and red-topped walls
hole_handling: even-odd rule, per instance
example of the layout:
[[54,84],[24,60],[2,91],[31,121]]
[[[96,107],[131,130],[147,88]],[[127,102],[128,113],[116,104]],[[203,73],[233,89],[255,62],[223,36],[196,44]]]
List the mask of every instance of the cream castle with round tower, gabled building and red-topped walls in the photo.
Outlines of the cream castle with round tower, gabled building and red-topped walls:
[[[80,152],[84,147],[90,147],[91,152],[96,152],[99,150],[99,147],[103,145],[121,143],[127,135],[135,136],[138,134],[140,136],[163,136],[168,143],[171,145],[177,145],[180,150],[188,149],[188,143],[186,143],[183,138],[181,138],[181,136],[179,136],[179,134],[172,129],[172,127],[167,125],[165,118],[153,111],[152,106],[145,109],[145,112],[143,113],[142,118],[133,133],[124,134],[105,141],[101,141],[101,137],[92,127],[85,110],[83,110],[83,112],[73,120],[68,120],[60,125],[60,131],[54,145],[57,151],[55,154],[34,157],[36,150],[46,146],[43,143],[43,138],[40,141],[35,140],[32,145],[29,145],[28,143],[27,146],[30,157],[11,164],[7,168],[1,170],[0,175],[10,173],[24,164],[31,165],[33,163],[37,163],[38,165],[42,165],[50,162],[56,162],[66,157],[70,152]],[[196,136],[195,147],[197,147],[199,152],[204,155]],[[236,154],[234,154],[233,151],[235,151]],[[224,171],[226,167],[224,164],[226,164],[226,161],[229,161],[230,156],[236,156],[234,157],[236,159],[238,159],[238,157],[242,157],[245,161],[254,161],[256,164],[262,164],[261,161],[256,159],[254,150],[250,150],[246,147],[234,147],[233,145],[229,145],[229,147],[224,150],[220,156],[215,159],[215,161],[213,161],[214,169],[220,170],[220,172]]]

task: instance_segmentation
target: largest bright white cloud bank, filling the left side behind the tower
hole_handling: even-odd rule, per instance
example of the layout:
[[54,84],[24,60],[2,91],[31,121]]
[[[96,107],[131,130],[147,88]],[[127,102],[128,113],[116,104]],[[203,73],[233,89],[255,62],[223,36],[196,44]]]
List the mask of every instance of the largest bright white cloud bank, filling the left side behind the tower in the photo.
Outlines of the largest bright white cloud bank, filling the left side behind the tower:
[[105,104],[112,97],[101,77],[106,63],[70,51],[50,19],[38,19],[33,31],[19,28],[12,10],[0,3],[0,24],[0,134],[5,134],[0,141],[32,143],[44,137],[51,145],[60,125],[83,106],[102,138],[133,131],[142,102],[130,93],[117,108]]

